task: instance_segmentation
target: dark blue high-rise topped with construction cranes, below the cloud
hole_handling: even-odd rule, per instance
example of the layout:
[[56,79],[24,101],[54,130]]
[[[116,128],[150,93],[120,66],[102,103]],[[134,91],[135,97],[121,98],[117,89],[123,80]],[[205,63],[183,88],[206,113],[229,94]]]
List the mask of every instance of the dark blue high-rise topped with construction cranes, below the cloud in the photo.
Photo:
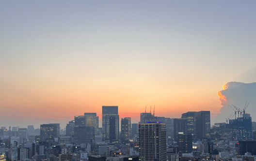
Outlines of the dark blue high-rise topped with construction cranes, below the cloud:
[[227,126],[229,129],[232,129],[234,140],[248,140],[253,138],[252,117],[250,114],[242,114],[242,117],[230,119]]

